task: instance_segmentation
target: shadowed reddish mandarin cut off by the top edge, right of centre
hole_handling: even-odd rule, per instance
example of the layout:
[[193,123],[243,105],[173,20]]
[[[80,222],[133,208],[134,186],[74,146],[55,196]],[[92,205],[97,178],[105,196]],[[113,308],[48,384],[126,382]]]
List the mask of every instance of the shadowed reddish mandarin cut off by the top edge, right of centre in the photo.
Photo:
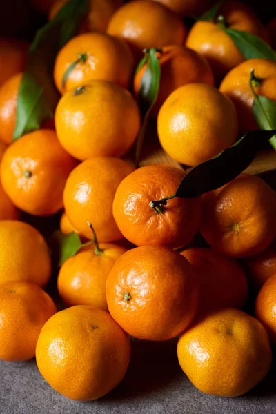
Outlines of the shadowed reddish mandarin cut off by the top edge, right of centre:
[[152,0],[164,4],[181,16],[200,16],[211,7],[210,0]]

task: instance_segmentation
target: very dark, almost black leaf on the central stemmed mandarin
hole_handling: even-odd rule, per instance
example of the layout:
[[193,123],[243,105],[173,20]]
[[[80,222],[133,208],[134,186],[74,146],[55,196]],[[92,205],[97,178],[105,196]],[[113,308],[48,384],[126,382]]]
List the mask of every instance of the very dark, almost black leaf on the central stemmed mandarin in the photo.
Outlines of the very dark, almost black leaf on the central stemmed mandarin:
[[250,131],[217,157],[192,168],[179,184],[176,196],[198,197],[232,181],[251,164],[259,148],[273,137],[275,132],[276,130]]

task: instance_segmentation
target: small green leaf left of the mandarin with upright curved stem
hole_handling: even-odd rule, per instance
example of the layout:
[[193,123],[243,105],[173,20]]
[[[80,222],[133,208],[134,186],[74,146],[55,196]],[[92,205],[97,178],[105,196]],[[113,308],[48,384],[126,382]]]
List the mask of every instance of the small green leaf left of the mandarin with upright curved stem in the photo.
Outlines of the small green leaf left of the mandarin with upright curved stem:
[[69,235],[63,235],[59,230],[55,231],[52,239],[55,241],[55,248],[58,250],[58,266],[69,259],[69,257],[75,255],[83,244],[77,233],[70,233]]

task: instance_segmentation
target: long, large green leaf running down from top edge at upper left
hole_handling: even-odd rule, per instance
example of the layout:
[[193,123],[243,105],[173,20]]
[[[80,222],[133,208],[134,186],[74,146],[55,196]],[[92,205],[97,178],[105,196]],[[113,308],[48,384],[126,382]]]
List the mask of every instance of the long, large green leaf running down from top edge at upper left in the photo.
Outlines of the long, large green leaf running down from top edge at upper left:
[[57,52],[75,35],[88,11],[88,0],[70,0],[57,16],[38,30],[28,52],[26,71],[19,88],[17,124],[13,139],[37,130],[51,119],[59,101],[52,79]]

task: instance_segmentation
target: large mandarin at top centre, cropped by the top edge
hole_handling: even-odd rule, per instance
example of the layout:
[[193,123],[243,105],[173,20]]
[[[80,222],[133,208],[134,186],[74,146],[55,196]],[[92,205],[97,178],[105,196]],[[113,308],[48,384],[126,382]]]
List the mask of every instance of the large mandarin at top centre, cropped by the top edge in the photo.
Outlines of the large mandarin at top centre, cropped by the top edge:
[[135,50],[181,45],[186,27],[176,13],[152,1],[130,1],[113,14],[107,32],[124,37]]

